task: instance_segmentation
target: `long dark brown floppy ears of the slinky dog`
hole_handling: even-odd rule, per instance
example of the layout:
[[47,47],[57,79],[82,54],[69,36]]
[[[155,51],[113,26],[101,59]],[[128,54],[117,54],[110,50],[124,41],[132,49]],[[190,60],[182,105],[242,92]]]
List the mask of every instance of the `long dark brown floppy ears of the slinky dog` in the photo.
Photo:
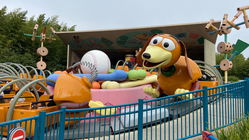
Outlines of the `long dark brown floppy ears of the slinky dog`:
[[[146,50],[146,48],[148,47],[148,45],[149,45],[151,39],[152,39],[153,37],[157,36],[157,35],[163,35],[163,36],[166,36],[166,37],[170,37],[170,39],[172,39],[172,38],[175,39],[175,42],[178,43],[178,44],[175,44],[175,46],[180,46],[180,48],[179,48],[179,49],[181,50],[180,52],[183,52],[183,54],[184,54],[184,56],[185,56],[185,62],[186,62],[186,65],[187,65],[188,74],[189,74],[190,78],[192,79],[192,78],[193,78],[193,75],[192,75],[191,67],[190,67],[189,62],[188,62],[188,56],[187,56],[187,49],[186,49],[186,46],[185,46],[185,44],[184,44],[181,40],[177,39],[175,36],[170,35],[170,34],[155,34],[155,35],[149,37],[148,40],[146,41],[146,43],[144,44],[144,47],[141,48],[141,49],[137,52],[137,54],[136,54],[136,61],[137,61],[137,64],[140,65],[140,66],[143,65],[142,55],[143,55],[144,51]],[[179,52],[179,53],[180,53],[180,52]],[[180,56],[181,54],[172,54],[172,55],[179,55],[179,56]],[[176,61],[177,61],[177,60],[176,60]]]

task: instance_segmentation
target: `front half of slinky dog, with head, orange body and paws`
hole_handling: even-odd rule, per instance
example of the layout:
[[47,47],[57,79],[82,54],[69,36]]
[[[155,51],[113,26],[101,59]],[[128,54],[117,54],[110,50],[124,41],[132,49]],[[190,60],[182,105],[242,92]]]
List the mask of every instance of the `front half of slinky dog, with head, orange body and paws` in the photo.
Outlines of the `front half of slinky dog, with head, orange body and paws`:
[[[181,51],[185,56],[181,56]],[[159,68],[159,88],[146,88],[154,97],[160,93],[173,95],[196,89],[196,81],[202,76],[198,65],[187,57],[184,44],[169,34],[153,36],[137,53],[138,63],[146,69]]]

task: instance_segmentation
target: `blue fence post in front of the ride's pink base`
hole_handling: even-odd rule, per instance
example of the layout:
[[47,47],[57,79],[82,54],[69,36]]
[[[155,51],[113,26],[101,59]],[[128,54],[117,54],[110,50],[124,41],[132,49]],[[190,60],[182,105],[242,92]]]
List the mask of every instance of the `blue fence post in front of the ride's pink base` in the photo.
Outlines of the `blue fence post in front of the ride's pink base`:
[[138,140],[143,140],[143,99],[138,99]]

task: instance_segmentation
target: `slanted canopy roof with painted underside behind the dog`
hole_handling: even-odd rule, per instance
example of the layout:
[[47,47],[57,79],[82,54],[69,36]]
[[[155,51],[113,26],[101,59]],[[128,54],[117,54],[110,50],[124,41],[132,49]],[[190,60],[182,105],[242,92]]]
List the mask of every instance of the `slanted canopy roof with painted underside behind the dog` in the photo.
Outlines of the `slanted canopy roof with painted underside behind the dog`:
[[[148,37],[157,33],[168,33],[182,40],[186,46],[203,46],[204,39],[216,42],[217,34],[205,30],[207,22],[168,26],[110,29],[93,31],[56,32],[72,50],[131,50],[143,46]],[[218,27],[219,21],[214,22]]]

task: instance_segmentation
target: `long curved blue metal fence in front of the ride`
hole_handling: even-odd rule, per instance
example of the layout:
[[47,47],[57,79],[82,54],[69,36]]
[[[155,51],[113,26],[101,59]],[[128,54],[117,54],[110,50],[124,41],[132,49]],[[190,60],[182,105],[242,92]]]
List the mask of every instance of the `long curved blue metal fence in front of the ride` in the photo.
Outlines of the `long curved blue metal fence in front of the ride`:
[[29,132],[28,138],[39,140],[186,139],[243,119],[249,112],[248,93],[246,79],[132,104],[42,111],[38,116],[0,123],[0,138],[21,126]]

